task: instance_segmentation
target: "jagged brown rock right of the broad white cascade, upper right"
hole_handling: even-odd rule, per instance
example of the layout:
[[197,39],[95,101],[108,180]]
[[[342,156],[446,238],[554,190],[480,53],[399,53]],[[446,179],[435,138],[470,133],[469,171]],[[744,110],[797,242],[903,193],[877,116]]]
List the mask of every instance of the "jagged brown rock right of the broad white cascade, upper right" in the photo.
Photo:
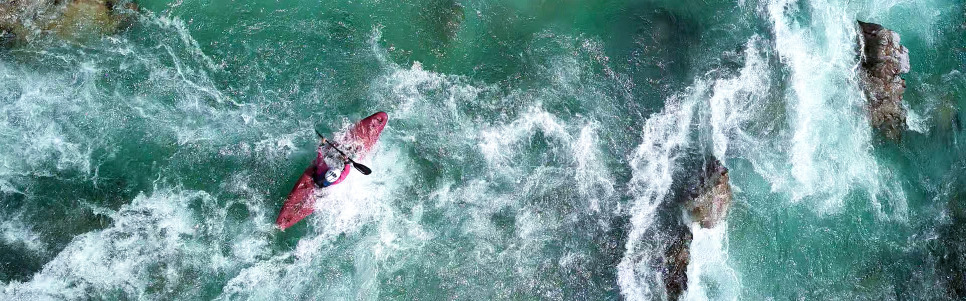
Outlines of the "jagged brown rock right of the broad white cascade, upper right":
[[864,45],[860,73],[869,123],[886,137],[898,140],[906,129],[902,107],[905,79],[899,74],[909,72],[909,49],[899,44],[899,34],[882,25],[859,21],[859,28]]

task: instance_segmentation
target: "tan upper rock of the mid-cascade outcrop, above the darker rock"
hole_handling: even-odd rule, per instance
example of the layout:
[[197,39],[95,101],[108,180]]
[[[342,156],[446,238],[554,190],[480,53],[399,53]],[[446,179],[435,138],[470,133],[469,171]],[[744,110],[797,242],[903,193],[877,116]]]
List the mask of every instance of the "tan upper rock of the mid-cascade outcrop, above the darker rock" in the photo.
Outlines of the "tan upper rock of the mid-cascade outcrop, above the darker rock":
[[696,196],[688,204],[688,212],[702,228],[714,228],[725,219],[731,207],[731,185],[727,168],[718,159],[709,160],[700,177]]

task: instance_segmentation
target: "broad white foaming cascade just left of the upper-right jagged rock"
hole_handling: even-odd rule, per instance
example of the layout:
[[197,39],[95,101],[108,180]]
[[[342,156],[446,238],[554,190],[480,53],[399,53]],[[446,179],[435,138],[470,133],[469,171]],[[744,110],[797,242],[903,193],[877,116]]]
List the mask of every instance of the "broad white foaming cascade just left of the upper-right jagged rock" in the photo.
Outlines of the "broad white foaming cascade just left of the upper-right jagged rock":
[[[880,168],[869,152],[871,128],[858,85],[854,16],[824,1],[809,5],[808,24],[789,17],[796,13],[792,1],[767,7],[776,50],[791,71],[791,89],[783,99],[791,132],[746,141],[743,152],[773,190],[788,193],[793,202],[809,200],[817,213],[838,212],[857,188],[867,190],[877,204],[883,191]],[[902,196],[890,201],[905,202]]]

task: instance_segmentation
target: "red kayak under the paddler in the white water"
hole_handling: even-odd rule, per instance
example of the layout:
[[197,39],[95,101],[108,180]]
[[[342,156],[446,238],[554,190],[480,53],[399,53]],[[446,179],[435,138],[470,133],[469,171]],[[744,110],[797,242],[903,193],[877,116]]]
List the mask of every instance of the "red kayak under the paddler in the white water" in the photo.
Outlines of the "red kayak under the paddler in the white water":
[[[388,120],[389,116],[385,112],[379,112],[355,123],[352,129],[343,134],[342,139],[337,139],[339,150],[345,151],[356,161],[362,160],[379,141],[379,135],[383,133],[383,127]],[[333,150],[331,146],[325,146],[322,151],[319,151],[316,161],[312,162],[312,165],[298,178],[296,186],[292,188],[288,199],[285,200],[285,205],[282,205],[282,211],[278,212],[278,219],[275,220],[275,225],[279,229],[285,231],[286,228],[292,227],[315,211],[317,187],[312,180],[312,175],[315,174],[316,162],[325,162],[326,158],[329,158],[329,162],[338,162],[341,165],[341,161],[335,159],[336,154],[338,151]],[[343,173],[350,173],[350,171],[343,171]]]

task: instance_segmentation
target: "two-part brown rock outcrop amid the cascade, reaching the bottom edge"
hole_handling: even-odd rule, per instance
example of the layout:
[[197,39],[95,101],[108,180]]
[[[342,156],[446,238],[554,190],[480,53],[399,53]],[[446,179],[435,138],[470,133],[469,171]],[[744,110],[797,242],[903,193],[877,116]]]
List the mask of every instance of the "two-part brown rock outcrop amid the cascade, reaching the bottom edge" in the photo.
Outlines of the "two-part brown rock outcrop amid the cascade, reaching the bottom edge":
[[[688,192],[684,208],[689,213],[682,224],[698,223],[701,228],[714,228],[725,219],[731,207],[731,185],[727,168],[717,158],[710,158],[697,174],[696,186]],[[669,301],[678,300],[688,290],[688,263],[691,260],[690,227],[674,228],[665,242],[662,275]]]

